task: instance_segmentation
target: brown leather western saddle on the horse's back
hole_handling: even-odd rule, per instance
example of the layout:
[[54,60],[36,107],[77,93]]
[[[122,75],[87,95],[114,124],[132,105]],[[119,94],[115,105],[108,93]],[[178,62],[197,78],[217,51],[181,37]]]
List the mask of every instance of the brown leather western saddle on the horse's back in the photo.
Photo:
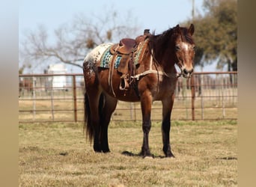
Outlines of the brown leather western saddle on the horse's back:
[[118,73],[121,73],[121,83],[119,88],[120,90],[127,90],[129,85],[132,84],[131,77],[135,75],[135,52],[138,50],[139,43],[143,42],[150,36],[149,31],[149,29],[145,29],[144,34],[136,37],[135,39],[124,38],[110,48],[110,53],[113,55],[112,62],[109,66],[109,85],[112,89],[112,93],[114,93],[112,88],[112,75],[115,60],[118,57],[121,57],[120,64],[118,65]]

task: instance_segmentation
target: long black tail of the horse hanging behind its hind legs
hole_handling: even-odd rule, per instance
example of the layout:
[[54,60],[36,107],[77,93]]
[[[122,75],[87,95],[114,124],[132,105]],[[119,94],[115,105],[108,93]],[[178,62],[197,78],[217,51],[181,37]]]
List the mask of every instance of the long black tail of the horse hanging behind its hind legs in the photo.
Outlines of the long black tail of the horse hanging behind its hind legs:
[[[84,100],[84,132],[86,132],[86,136],[88,137],[88,140],[91,141],[94,138],[94,132],[95,132],[95,128],[96,128],[96,124],[93,124],[91,121],[91,109],[90,109],[90,105],[89,105],[89,99],[88,99],[88,95],[85,92],[84,94],[85,96],[85,100]],[[99,116],[100,116],[100,120],[103,116],[103,108],[105,105],[105,101],[106,101],[106,97],[104,96],[103,93],[100,94],[100,99],[99,99]],[[100,123],[100,121],[99,121]],[[100,126],[100,124],[99,124]]]

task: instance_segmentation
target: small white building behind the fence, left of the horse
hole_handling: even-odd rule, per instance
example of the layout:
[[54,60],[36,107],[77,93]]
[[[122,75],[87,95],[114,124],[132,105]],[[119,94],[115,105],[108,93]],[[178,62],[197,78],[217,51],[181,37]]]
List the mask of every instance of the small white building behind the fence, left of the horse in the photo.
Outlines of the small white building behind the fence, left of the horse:
[[[65,64],[50,64],[47,70],[48,74],[66,74],[67,68]],[[55,89],[64,89],[67,90],[67,76],[50,76],[49,79],[49,87]]]

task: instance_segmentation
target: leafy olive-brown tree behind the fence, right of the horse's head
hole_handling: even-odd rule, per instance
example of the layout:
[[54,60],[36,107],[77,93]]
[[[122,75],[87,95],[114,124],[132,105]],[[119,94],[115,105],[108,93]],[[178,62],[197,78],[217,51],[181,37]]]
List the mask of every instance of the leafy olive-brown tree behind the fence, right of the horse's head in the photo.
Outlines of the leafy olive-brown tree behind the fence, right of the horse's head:
[[237,0],[205,0],[205,16],[196,17],[195,65],[218,61],[217,69],[228,64],[237,70]]

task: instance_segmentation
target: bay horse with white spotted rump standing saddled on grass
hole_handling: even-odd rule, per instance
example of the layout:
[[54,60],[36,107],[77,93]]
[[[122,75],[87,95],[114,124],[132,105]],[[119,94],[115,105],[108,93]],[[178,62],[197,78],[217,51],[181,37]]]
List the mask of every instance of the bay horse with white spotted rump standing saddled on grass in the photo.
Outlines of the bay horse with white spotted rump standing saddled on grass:
[[[162,101],[162,150],[166,157],[174,157],[170,144],[174,90],[179,76],[189,78],[192,75],[195,56],[195,43],[192,39],[194,31],[193,24],[189,28],[176,25],[162,34],[147,35],[136,47],[130,48],[127,44],[128,49],[124,53],[132,53],[129,57],[135,63],[129,63],[129,69],[132,67],[133,73],[129,73],[129,87],[124,89],[121,89],[122,75],[115,64],[117,57],[115,61],[114,56],[109,53],[113,43],[100,44],[85,56],[84,130],[88,139],[94,140],[95,152],[110,151],[108,126],[118,100],[122,100],[141,102],[143,143],[139,155],[143,158],[153,156],[148,141],[150,114],[153,101],[159,100]],[[175,64],[180,68],[180,73],[177,73]]]

